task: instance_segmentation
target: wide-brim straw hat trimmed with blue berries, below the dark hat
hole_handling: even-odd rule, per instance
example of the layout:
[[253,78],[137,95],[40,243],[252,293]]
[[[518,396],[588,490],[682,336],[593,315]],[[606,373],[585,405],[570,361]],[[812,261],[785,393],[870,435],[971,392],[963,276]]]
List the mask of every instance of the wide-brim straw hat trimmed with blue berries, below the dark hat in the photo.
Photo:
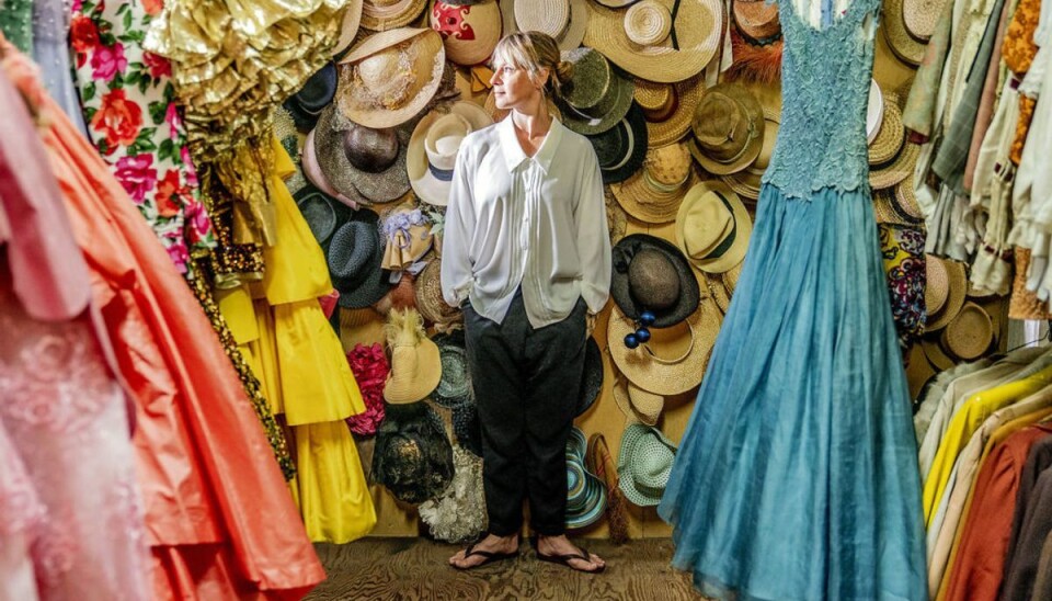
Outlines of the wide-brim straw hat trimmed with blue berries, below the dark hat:
[[610,358],[639,388],[664,396],[683,394],[701,383],[721,321],[716,303],[700,303],[685,325],[652,329],[649,342],[629,349],[621,341],[636,331],[636,324],[615,306],[607,326]]

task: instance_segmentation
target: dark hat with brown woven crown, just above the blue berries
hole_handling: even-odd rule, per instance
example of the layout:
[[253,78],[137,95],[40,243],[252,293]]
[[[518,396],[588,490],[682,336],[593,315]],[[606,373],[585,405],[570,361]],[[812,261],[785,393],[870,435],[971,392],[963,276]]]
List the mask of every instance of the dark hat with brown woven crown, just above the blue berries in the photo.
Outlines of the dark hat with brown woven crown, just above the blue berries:
[[654,314],[654,328],[667,328],[697,310],[698,281],[672,242],[630,234],[614,245],[611,256],[610,296],[629,319],[649,310]]

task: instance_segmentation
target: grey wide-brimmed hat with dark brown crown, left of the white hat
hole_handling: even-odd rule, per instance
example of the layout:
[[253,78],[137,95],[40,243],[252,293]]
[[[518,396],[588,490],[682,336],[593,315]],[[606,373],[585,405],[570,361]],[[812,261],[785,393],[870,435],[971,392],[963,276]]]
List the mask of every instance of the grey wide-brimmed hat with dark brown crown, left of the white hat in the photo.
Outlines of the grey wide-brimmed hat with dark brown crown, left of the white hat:
[[412,126],[374,129],[353,123],[335,105],[321,112],[313,152],[325,180],[343,195],[388,203],[410,190],[405,170]]

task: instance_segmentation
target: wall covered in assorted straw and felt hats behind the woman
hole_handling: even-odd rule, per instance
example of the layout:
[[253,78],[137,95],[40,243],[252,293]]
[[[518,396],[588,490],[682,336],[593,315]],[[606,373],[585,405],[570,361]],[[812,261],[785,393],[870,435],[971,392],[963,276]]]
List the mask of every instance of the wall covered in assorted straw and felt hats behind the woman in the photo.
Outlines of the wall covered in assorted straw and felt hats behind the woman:
[[[867,115],[874,209],[914,394],[935,371],[1004,348],[1006,322],[1000,298],[969,290],[960,263],[921,261],[918,147],[902,122],[934,26],[919,4],[884,3]],[[419,430],[441,438],[441,421],[457,442],[457,473],[478,473],[460,316],[438,284],[442,226],[459,141],[505,116],[485,64],[515,30],[551,34],[575,65],[572,92],[551,110],[593,143],[615,243],[611,302],[568,449],[580,485],[568,520],[586,536],[609,533],[606,515],[617,536],[668,535],[653,507],[733,296],[778,134],[781,30],[777,8],[763,0],[348,2],[333,61],[285,103],[277,129],[300,159],[295,196],[325,251],[340,292],[333,325],[370,404],[352,429],[378,483],[374,534],[456,538],[481,528],[449,523],[458,512],[450,508],[478,498],[470,486],[418,508],[420,490],[393,484],[398,466],[382,435],[423,419],[431,426]],[[641,310],[641,298],[660,310]],[[385,329],[390,309],[404,307],[422,324]],[[386,353],[375,345],[385,342]],[[419,374],[399,373],[407,352],[416,353]],[[426,415],[380,420],[377,374],[388,362],[401,383],[390,404],[428,397]],[[420,384],[432,381],[428,395],[434,387]],[[448,458],[430,468],[436,489],[448,468]]]

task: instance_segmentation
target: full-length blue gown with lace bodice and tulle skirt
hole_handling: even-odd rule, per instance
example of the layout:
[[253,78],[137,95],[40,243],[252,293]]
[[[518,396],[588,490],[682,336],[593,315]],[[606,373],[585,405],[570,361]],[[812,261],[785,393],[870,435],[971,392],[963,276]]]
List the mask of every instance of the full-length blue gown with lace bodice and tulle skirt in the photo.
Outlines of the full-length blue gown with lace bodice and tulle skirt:
[[720,599],[926,599],[910,399],[868,183],[880,0],[780,0],[782,113],[756,224],[659,507]]

